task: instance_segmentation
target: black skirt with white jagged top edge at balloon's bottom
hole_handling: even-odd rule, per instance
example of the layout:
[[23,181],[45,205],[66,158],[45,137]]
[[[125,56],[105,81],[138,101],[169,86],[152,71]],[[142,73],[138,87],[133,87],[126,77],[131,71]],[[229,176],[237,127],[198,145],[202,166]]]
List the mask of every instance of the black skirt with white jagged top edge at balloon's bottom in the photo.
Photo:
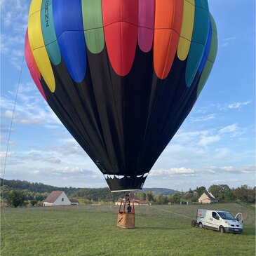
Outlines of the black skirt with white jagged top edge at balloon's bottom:
[[105,180],[112,192],[142,190],[149,173],[142,175],[105,175]]

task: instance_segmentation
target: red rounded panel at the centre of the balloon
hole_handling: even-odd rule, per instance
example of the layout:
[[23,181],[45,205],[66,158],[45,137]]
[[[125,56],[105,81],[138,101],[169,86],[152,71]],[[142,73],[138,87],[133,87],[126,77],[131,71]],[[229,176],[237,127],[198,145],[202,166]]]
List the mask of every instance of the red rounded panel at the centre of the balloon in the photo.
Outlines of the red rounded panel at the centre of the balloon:
[[102,0],[107,53],[116,74],[130,72],[137,45],[137,0]]

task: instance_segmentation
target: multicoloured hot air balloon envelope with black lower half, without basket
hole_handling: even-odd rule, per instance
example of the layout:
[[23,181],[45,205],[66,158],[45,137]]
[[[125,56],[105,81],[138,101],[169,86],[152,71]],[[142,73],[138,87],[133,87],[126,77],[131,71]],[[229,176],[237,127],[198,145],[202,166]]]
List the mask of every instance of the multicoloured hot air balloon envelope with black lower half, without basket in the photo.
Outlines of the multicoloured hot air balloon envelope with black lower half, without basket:
[[142,189],[216,53],[207,0],[32,0],[29,9],[29,72],[112,191]]

